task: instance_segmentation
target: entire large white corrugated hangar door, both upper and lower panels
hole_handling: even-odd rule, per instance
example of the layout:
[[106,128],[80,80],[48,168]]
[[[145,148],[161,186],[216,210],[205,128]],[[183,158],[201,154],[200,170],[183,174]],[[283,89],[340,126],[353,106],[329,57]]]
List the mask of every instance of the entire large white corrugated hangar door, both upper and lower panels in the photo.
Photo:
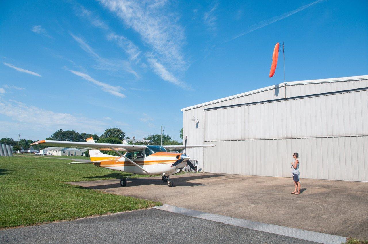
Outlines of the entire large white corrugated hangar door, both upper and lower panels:
[[368,181],[368,92],[356,89],[205,109],[204,171]]

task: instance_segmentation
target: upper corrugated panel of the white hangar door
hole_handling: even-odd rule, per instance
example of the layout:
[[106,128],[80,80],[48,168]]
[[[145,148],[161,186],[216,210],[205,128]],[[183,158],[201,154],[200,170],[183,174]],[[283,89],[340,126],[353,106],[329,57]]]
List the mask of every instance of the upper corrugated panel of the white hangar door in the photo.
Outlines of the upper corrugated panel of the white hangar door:
[[359,90],[205,110],[204,140],[368,135],[367,101]]

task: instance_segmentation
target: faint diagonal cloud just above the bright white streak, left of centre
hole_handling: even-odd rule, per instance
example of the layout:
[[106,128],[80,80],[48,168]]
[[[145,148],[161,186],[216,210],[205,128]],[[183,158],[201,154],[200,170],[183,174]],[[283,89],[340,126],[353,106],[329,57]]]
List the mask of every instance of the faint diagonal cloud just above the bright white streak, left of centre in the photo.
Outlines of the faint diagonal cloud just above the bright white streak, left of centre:
[[99,54],[97,54],[91,46],[89,46],[81,37],[75,36],[70,33],[71,37],[78,42],[79,46],[86,51],[91,57],[98,63],[94,68],[101,69],[112,72],[125,71],[128,73],[132,73],[136,77],[138,77],[138,73],[135,72],[128,61],[120,60],[120,59],[109,59],[103,58]]

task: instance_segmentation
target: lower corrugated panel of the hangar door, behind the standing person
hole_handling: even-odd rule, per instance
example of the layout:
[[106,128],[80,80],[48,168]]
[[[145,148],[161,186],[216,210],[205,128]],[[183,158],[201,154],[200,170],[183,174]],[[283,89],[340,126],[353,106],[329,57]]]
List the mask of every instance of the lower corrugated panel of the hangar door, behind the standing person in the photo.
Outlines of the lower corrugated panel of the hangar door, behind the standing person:
[[368,181],[368,136],[207,143],[205,172],[290,177],[298,152],[301,178]]

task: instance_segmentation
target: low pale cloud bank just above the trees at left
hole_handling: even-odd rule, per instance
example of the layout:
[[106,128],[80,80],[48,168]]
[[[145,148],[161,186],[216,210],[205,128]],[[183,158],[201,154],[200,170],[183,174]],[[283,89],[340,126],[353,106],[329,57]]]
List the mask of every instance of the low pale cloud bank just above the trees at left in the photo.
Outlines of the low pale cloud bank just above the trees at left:
[[[0,114],[10,117],[23,129],[29,128],[34,130],[36,128],[42,131],[49,130],[52,132],[62,128],[97,133],[103,132],[103,129],[106,127],[105,123],[97,119],[53,112],[14,100],[0,101]],[[7,125],[7,123],[2,122],[4,121],[0,121],[1,124]],[[12,124],[14,126],[14,122],[8,126],[12,126]],[[14,131],[13,127],[2,129],[13,129],[11,131]]]

